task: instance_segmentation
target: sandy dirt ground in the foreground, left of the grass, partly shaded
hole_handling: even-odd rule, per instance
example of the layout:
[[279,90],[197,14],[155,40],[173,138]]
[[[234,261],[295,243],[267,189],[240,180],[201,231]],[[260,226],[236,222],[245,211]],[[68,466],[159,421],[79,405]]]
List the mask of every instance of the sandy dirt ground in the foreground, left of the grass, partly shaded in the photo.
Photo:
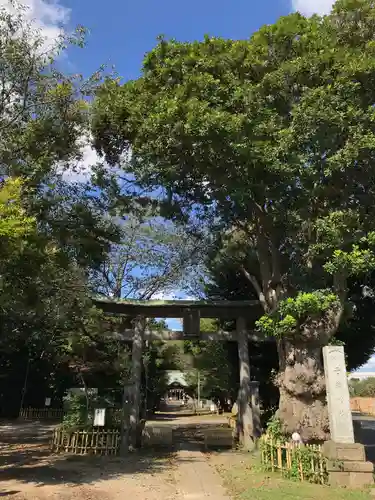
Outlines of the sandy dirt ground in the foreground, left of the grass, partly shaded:
[[0,425],[0,497],[13,500],[230,500],[198,450],[127,458],[51,455],[52,426]]

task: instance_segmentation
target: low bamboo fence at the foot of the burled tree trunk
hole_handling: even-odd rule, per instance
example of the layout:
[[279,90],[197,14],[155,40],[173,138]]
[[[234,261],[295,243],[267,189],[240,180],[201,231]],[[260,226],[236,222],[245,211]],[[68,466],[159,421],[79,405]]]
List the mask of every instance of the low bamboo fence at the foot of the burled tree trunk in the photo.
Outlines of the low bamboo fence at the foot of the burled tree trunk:
[[318,445],[282,444],[269,436],[260,440],[262,464],[271,471],[300,481],[326,484],[326,459]]

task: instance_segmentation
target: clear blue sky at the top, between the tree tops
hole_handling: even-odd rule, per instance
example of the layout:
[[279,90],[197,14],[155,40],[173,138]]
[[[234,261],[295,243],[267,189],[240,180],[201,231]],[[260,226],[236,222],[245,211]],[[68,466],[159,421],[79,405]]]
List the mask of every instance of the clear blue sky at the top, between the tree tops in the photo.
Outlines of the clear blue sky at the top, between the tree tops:
[[114,64],[125,79],[139,75],[144,54],[159,34],[190,41],[204,34],[248,38],[263,24],[291,12],[289,0],[62,0],[71,8],[70,25],[91,31],[88,47],[70,55],[84,73]]

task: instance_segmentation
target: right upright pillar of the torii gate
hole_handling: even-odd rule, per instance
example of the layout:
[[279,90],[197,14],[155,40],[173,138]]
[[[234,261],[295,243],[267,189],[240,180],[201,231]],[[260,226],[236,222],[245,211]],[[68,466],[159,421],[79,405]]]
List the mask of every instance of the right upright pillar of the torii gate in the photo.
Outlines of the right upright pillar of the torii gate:
[[240,389],[238,391],[237,435],[246,451],[255,447],[253,412],[250,406],[249,339],[245,318],[237,318],[238,357],[240,363]]

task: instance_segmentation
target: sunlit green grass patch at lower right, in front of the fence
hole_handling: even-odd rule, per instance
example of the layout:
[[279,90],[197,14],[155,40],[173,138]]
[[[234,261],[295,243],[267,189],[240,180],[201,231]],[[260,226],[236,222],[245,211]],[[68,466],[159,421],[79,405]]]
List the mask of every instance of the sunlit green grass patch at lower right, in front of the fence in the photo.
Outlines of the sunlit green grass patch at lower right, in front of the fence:
[[331,488],[263,472],[256,458],[241,453],[212,454],[210,461],[235,500],[369,500],[370,490]]

